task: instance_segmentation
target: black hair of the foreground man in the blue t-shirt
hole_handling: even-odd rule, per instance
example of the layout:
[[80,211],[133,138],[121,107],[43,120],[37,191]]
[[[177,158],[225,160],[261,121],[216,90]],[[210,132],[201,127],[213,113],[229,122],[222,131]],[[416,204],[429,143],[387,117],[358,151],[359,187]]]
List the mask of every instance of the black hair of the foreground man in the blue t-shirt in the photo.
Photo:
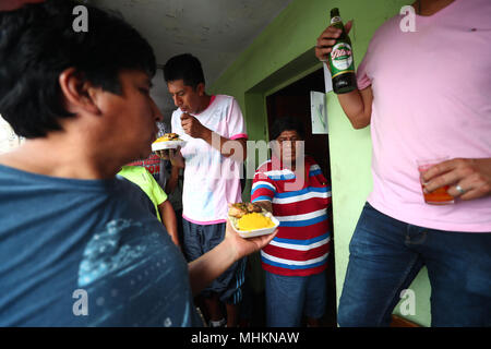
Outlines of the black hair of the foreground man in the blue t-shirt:
[[0,12],[0,115],[21,136],[43,137],[61,129],[60,118],[73,117],[58,82],[68,68],[116,94],[122,70],[155,75],[152,47],[119,16],[85,4],[88,31],[75,32],[80,4],[47,0]]

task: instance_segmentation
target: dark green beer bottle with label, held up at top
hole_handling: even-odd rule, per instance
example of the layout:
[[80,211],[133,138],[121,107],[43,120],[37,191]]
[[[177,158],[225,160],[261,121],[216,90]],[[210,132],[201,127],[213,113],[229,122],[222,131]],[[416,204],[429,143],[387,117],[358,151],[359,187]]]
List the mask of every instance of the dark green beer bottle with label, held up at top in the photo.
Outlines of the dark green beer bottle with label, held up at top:
[[336,94],[346,94],[357,88],[355,75],[355,61],[352,58],[351,40],[346,34],[345,26],[339,16],[339,9],[331,10],[331,26],[343,31],[328,57],[333,91]]

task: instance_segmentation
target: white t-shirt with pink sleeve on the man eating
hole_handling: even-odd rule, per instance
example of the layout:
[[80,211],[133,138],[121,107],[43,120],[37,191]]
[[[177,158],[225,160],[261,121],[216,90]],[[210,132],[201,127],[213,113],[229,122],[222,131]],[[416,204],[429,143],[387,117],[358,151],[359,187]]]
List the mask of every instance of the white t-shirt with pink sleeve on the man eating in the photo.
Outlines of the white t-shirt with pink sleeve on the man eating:
[[[171,125],[172,132],[187,142],[181,149],[185,159],[182,216],[201,225],[224,222],[227,219],[227,203],[242,202],[242,163],[224,157],[205,141],[185,134],[181,127],[181,115],[180,109],[173,111]],[[248,137],[239,104],[231,96],[214,96],[209,106],[194,117],[226,139]],[[216,142],[219,142],[219,137]]]

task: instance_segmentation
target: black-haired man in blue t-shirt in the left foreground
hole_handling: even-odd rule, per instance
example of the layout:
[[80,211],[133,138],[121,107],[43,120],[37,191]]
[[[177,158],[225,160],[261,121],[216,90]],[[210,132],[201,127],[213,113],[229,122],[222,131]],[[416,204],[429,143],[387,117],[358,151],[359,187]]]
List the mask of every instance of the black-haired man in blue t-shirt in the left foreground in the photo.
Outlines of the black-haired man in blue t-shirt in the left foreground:
[[155,57],[121,19],[48,0],[0,12],[0,113],[27,141],[0,156],[0,326],[201,326],[199,293],[274,234],[230,229],[189,265],[136,185],[161,119]]

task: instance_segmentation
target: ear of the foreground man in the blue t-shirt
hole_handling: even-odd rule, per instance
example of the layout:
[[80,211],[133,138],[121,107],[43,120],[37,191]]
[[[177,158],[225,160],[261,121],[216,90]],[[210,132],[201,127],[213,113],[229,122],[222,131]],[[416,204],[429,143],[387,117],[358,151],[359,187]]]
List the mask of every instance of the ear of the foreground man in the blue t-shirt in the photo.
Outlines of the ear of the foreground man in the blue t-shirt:
[[67,110],[73,113],[84,110],[89,113],[99,115],[97,107],[97,93],[101,89],[94,87],[91,82],[83,79],[75,68],[68,68],[61,72],[58,82],[63,94]]

